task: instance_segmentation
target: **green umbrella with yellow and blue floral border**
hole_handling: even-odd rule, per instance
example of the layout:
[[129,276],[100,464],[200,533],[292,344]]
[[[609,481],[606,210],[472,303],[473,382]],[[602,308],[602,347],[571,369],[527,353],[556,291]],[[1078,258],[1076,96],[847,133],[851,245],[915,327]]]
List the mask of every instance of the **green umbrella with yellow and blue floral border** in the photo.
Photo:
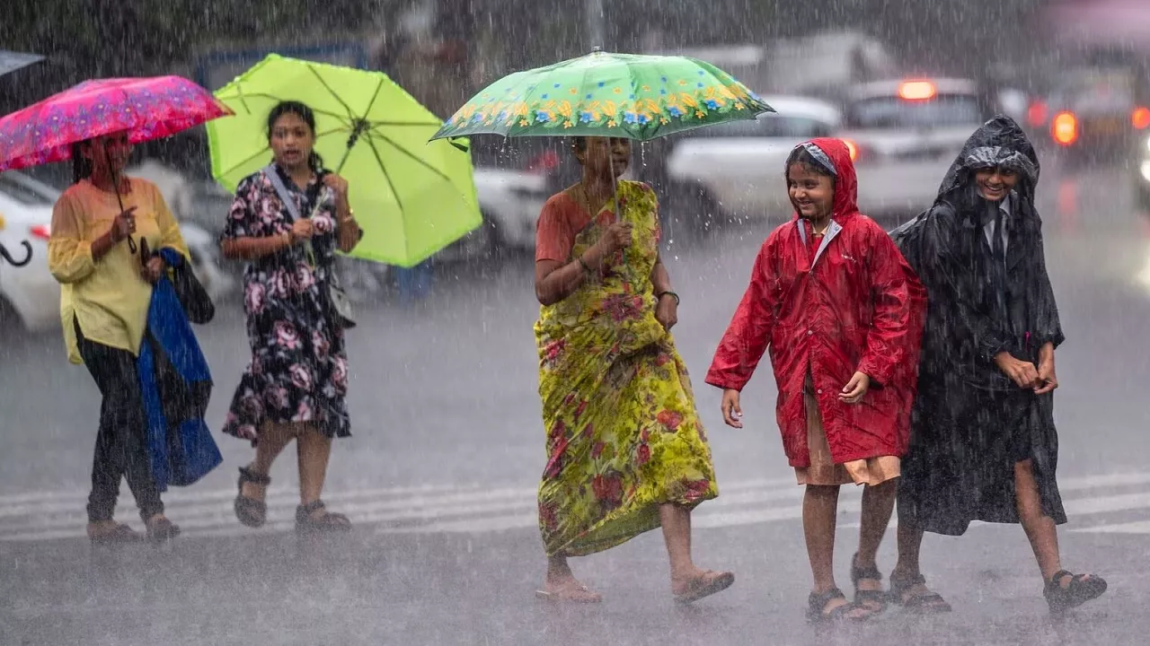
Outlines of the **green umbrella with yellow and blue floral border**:
[[687,56],[592,52],[506,76],[463,105],[432,139],[654,139],[774,109],[711,63]]

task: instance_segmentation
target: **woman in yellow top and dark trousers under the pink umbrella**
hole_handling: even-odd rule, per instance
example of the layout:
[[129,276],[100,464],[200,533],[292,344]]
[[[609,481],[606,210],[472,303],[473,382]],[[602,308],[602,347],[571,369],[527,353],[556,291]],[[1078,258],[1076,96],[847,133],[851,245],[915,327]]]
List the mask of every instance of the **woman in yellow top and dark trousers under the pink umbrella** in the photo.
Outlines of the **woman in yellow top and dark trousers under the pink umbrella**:
[[148,538],[163,541],[179,533],[164,517],[152,479],[136,369],[152,284],[163,261],[156,256],[141,263],[131,247],[146,240],[152,249],[170,247],[185,257],[189,252],[159,189],[123,176],[131,149],[125,133],[74,146],[75,184],[56,201],[48,240],[48,268],[61,284],[68,359],[87,367],[102,397],[87,502],[87,536],[94,543],[141,539],[113,520],[125,476]]

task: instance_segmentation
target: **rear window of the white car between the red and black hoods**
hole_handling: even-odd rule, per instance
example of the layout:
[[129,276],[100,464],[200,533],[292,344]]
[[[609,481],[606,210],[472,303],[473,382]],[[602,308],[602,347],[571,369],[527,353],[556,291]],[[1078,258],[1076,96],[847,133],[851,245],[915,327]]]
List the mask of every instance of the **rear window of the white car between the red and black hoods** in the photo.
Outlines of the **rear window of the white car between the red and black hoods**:
[[945,128],[980,123],[982,111],[973,94],[938,94],[929,101],[877,97],[856,101],[846,109],[846,125],[858,129]]

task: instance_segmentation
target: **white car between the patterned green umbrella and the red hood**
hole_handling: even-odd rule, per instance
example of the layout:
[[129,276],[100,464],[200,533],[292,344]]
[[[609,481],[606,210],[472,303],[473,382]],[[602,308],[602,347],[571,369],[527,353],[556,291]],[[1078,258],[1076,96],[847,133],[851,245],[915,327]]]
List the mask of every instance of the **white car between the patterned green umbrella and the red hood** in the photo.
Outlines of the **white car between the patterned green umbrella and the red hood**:
[[700,128],[675,144],[667,172],[675,182],[698,184],[719,202],[726,217],[780,217],[791,212],[783,182],[787,155],[813,137],[831,137],[839,111],[806,97],[764,97],[775,113],[754,121]]

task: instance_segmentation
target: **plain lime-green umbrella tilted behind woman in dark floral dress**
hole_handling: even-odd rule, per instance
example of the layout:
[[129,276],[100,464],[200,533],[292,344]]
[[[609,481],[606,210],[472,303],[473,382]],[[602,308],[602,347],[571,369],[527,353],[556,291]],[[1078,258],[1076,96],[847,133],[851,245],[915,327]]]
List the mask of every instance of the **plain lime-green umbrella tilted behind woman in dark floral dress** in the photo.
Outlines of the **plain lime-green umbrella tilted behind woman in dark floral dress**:
[[363,239],[350,255],[414,267],[482,223],[471,159],[443,122],[382,72],[271,54],[216,97],[236,116],[208,123],[212,172],[231,191],[267,166],[267,117],[284,100],[315,111],[315,151],[347,179]]

